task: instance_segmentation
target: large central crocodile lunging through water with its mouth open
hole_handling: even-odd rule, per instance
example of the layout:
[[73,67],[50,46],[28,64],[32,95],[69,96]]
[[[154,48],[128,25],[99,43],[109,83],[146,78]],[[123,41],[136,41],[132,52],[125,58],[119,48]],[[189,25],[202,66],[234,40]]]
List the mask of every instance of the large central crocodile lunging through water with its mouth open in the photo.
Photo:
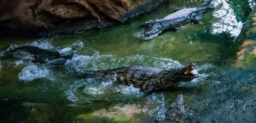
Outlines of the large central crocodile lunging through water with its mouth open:
[[182,65],[177,68],[159,69],[145,64],[129,65],[110,70],[72,71],[80,78],[102,78],[110,76],[115,85],[133,85],[139,88],[144,95],[163,91],[178,82],[190,82],[199,78],[200,74],[194,70],[195,63]]

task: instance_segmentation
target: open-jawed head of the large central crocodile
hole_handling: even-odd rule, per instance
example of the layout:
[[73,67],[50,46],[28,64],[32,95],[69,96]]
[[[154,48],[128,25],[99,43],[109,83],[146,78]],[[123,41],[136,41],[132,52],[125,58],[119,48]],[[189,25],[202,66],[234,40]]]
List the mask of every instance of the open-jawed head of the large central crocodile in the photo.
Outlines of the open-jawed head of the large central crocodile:
[[171,69],[170,70],[170,79],[172,82],[190,82],[195,78],[199,78],[200,74],[195,71],[195,63],[190,63],[185,66]]

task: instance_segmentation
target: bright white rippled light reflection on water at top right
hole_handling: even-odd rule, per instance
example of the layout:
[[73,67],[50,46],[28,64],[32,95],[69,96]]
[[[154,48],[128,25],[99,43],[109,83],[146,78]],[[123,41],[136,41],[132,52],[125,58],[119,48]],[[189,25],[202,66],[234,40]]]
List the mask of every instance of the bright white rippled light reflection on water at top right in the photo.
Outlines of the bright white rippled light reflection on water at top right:
[[214,4],[222,3],[222,7],[213,12],[213,16],[219,18],[218,22],[212,24],[212,33],[218,34],[228,31],[232,36],[237,37],[243,23],[236,20],[235,12],[225,0],[217,0]]

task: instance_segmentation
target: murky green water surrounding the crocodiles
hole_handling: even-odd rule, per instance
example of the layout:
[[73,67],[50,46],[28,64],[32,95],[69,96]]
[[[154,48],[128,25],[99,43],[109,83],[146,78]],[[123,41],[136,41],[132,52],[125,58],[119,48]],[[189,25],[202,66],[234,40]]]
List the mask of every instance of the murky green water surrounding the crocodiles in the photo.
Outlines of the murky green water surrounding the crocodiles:
[[[183,94],[187,113],[185,123],[209,123],[212,119],[218,123],[254,123],[256,69],[232,66],[241,41],[245,39],[235,40],[241,28],[235,28],[230,33],[213,33],[213,30],[222,30],[223,27],[213,26],[218,23],[224,23],[226,28],[239,27],[239,22],[246,22],[252,9],[249,2],[244,0],[224,2],[205,13],[201,23],[184,25],[175,32],[165,32],[149,41],[139,38],[142,31],[138,28],[139,24],[160,19],[179,7],[195,7],[202,2],[173,0],[124,24],[109,25],[80,34],[39,40],[4,39],[0,42],[0,47],[3,46],[1,51],[11,44],[32,43],[51,50],[71,47],[77,57],[68,61],[66,69],[51,69],[25,61],[16,65],[15,59],[1,60],[1,122],[73,123],[78,115],[115,105],[136,105],[139,109],[148,109],[139,115],[140,119],[159,120],[176,95]],[[213,16],[214,13],[220,16]],[[183,88],[154,93],[147,98],[131,86],[113,88],[111,82],[106,80],[103,83],[110,84],[106,87],[101,81],[81,80],[66,73],[68,67],[99,70],[143,63],[170,68],[190,62],[196,63],[196,69],[204,75],[202,78],[181,83],[180,87]],[[30,104],[21,105],[23,102],[33,103],[36,111],[30,111]],[[71,103],[75,105],[68,106]],[[86,122],[116,121],[95,118]]]

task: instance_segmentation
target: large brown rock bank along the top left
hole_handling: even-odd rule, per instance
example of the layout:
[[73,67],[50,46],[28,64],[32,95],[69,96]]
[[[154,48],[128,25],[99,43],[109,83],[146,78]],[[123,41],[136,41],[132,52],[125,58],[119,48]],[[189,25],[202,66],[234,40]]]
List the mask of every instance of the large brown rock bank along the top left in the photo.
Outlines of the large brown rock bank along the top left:
[[2,0],[1,30],[66,33],[123,22],[167,0]]

